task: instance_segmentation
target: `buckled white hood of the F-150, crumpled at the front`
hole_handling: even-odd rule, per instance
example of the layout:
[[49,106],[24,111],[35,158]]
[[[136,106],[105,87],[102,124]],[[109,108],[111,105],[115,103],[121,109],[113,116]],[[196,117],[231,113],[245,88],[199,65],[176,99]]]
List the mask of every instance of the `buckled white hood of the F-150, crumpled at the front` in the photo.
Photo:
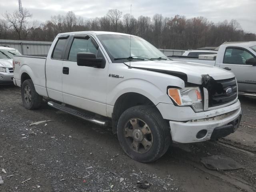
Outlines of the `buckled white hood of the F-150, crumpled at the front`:
[[180,77],[184,81],[194,84],[202,84],[202,76],[204,75],[209,75],[214,80],[229,79],[234,77],[232,72],[225,69],[195,62],[156,60],[126,62],[124,64],[128,66],[131,65],[132,68],[171,74],[173,76]]

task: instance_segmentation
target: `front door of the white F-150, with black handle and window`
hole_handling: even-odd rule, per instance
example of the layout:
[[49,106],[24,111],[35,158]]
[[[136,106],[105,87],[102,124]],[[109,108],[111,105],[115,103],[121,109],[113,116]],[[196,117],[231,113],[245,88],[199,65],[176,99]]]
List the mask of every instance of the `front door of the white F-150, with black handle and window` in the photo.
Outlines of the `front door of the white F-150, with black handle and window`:
[[[70,40],[63,61],[62,92],[64,103],[106,116],[108,62],[92,36],[76,35]],[[104,68],[78,66],[76,55],[93,53],[104,58]]]

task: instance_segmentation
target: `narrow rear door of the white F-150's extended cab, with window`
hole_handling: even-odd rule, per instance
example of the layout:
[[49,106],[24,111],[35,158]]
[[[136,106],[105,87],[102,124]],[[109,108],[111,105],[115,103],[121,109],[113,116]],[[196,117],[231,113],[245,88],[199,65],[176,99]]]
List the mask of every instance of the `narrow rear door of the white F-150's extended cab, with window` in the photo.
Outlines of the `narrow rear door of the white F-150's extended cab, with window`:
[[46,60],[46,88],[48,96],[54,100],[63,102],[62,97],[62,62],[68,43],[68,35],[59,36],[55,39],[53,50],[49,50],[52,54],[48,54]]

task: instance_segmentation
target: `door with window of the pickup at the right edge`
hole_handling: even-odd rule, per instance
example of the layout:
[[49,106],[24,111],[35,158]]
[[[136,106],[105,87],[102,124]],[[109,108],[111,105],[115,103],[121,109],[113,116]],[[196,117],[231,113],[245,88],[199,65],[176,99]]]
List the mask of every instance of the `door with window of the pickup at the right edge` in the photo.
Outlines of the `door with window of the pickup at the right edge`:
[[238,90],[241,92],[256,92],[256,66],[246,62],[253,57],[255,56],[245,48],[227,47],[223,62],[219,64],[219,67],[235,74]]

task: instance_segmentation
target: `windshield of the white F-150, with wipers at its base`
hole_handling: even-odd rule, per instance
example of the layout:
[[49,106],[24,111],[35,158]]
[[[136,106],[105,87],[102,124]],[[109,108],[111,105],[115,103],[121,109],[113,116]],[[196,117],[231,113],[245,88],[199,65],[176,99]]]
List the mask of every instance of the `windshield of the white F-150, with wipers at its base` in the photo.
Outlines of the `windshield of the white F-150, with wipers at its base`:
[[[169,60],[146,40],[127,35],[98,35],[112,62],[118,60]],[[131,46],[130,46],[131,45]]]

